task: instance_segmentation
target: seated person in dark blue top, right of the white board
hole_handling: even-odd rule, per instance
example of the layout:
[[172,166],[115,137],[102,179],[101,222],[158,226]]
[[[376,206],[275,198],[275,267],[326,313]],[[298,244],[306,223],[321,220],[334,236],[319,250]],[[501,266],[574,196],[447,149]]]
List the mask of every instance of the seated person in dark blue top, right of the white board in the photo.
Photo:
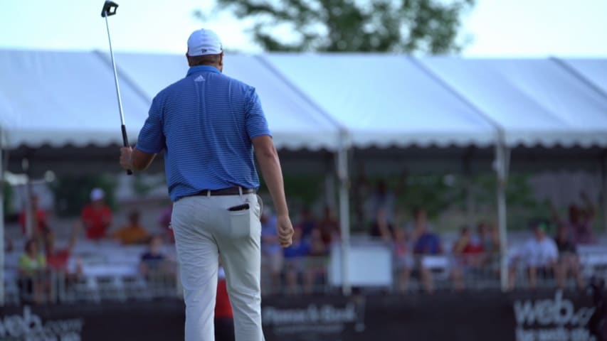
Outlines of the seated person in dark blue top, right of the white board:
[[428,266],[427,256],[443,254],[440,239],[428,228],[426,210],[413,210],[415,224],[413,227],[413,254],[416,256],[416,268],[420,271],[421,281],[426,292],[433,293],[434,281],[431,266]]

